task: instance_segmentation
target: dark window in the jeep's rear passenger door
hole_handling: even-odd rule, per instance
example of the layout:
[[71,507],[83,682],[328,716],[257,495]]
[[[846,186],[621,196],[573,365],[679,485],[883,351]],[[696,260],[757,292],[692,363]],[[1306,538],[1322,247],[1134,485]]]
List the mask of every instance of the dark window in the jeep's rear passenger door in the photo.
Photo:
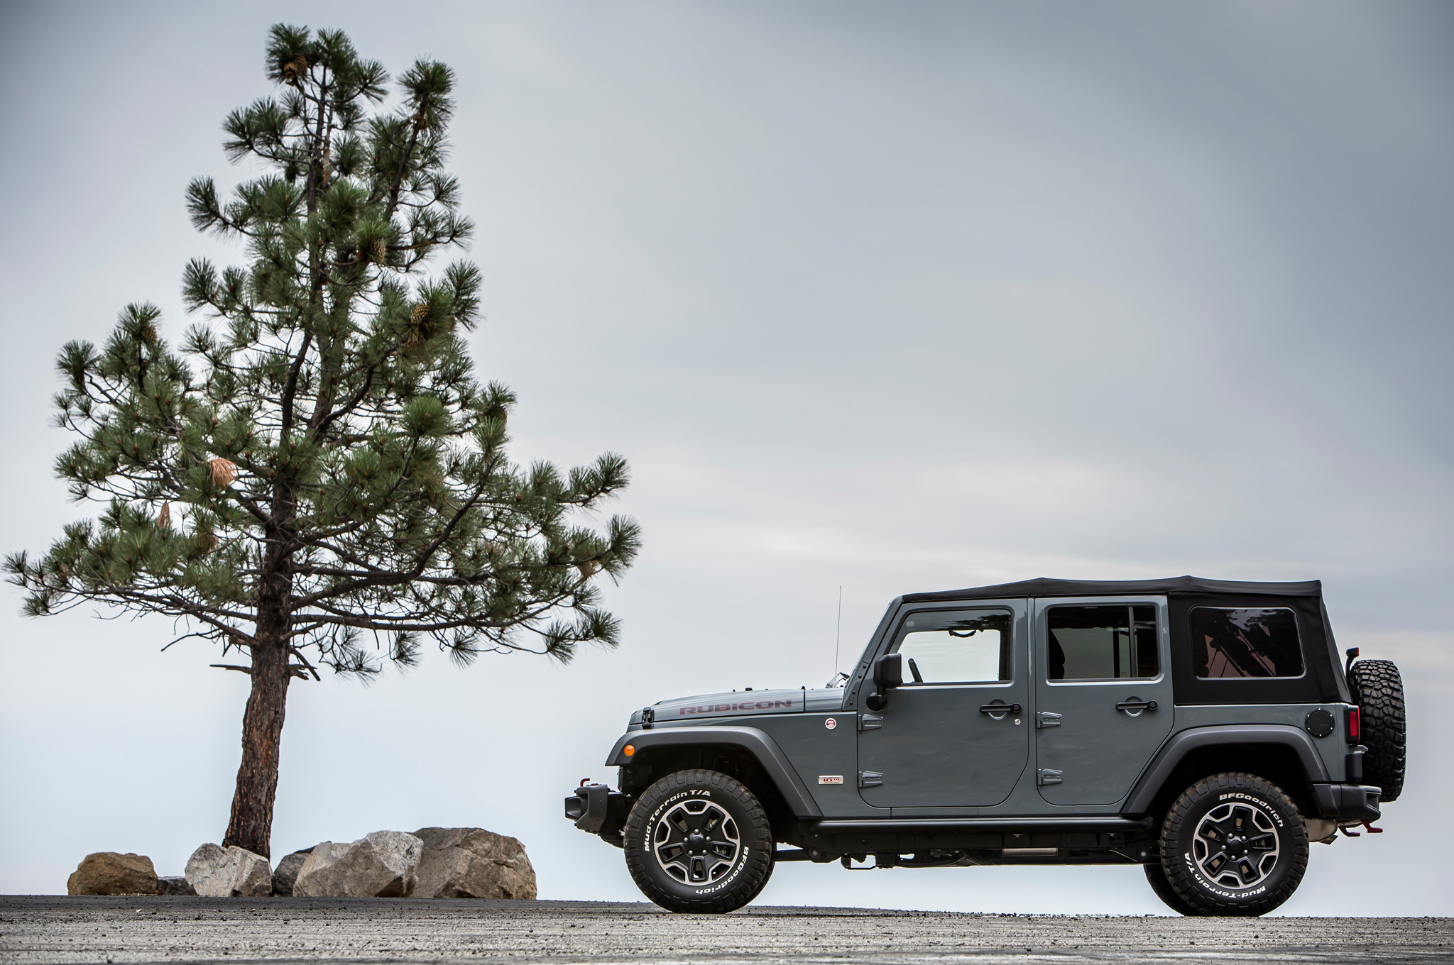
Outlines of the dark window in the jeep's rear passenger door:
[[1047,610],[1050,680],[1122,680],[1160,673],[1156,607],[1053,606]]

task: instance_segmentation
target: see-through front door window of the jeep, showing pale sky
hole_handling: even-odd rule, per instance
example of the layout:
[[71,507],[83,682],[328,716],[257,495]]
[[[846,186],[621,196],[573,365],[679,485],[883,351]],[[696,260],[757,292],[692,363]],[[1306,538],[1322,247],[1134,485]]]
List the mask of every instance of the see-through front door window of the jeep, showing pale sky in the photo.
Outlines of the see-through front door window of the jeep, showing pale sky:
[[904,686],[1011,679],[1009,610],[917,612],[899,631]]

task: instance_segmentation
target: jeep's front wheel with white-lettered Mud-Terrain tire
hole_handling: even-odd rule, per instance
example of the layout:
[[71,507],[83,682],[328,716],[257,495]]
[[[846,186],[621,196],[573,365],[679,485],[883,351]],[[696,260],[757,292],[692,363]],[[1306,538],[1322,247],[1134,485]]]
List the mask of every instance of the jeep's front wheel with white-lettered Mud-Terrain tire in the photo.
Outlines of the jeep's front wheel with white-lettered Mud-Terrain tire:
[[[696,844],[675,841],[683,828],[699,830],[696,825],[714,821],[723,833],[704,833]],[[679,770],[643,791],[622,837],[627,871],[637,888],[667,911],[736,911],[756,898],[772,875],[772,827],[762,804],[742,782],[717,770]],[[704,879],[694,881],[698,872]]]

